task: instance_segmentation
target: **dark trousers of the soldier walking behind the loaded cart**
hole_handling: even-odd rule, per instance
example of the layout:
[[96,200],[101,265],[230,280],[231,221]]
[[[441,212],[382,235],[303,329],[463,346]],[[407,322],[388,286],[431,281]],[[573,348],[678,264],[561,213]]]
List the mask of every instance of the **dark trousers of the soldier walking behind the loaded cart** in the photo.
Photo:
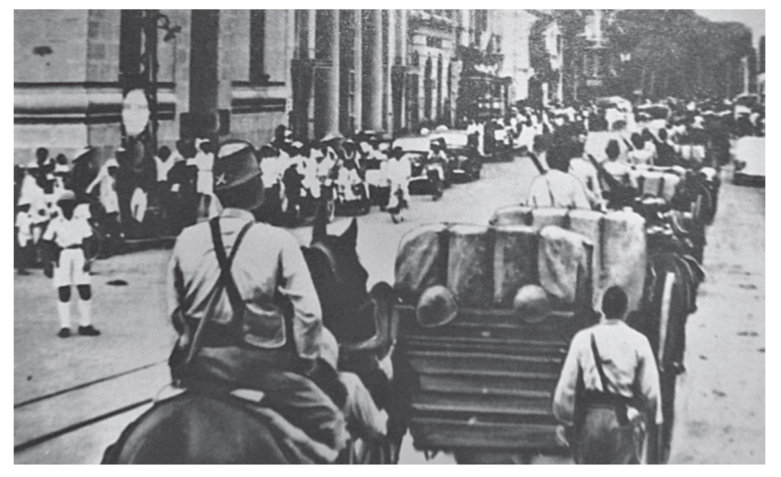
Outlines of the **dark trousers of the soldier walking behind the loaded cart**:
[[577,464],[639,464],[637,442],[631,422],[619,425],[614,408],[593,405],[576,429],[572,457]]

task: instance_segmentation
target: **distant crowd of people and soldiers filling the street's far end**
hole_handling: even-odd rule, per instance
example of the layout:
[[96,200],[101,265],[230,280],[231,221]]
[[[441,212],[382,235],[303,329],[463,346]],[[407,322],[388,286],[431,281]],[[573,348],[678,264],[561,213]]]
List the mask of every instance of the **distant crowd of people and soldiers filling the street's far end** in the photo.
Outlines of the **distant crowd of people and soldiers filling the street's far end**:
[[[642,108],[621,112],[596,104],[527,108],[520,113],[523,129],[533,130],[529,150],[544,151],[550,169],[540,166],[527,204],[603,209],[608,206],[604,191],[611,187],[597,167],[612,176],[609,182],[637,189],[637,178],[645,169],[719,170],[730,160],[733,137],[764,135],[761,108],[736,116],[725,101],[669,98],[655,106],[667,115],[660,119],[646,116]],[[594,133],[605,132],[608,141],[590,141],[590,136],[599,136]]]

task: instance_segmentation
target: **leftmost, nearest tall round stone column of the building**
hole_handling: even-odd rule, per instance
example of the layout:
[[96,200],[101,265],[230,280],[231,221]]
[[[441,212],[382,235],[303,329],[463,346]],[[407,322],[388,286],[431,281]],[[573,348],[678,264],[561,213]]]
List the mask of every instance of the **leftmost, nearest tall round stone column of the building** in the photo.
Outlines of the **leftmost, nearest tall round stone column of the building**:
[[317,10],[315,137],[339,132],[339,10]]

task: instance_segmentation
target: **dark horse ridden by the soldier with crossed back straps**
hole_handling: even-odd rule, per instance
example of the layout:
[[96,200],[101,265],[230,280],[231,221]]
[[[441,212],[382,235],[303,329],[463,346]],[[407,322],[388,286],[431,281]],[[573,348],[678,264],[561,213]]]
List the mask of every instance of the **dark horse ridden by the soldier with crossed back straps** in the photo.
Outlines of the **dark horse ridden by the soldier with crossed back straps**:
[[[366,308],[363,304],[372,302],[373,298],[387,301],[390,286],[378,284],[371,294],[366,293],[368,273],[355,252],[357,222],[341,237],[326,235],[326,222],[323,207],[316,219],[313,246],[305,249],[305,257],[322,300],[326,326],[333,326],[334,334],[341,334],[342,340],[361,340],[369,333],[369,324],[372,332],[376,326],[366,323],[351,329],[352,317],[362,316],[354,307],[362,304]],[[383,322],[387,322],[387,304],[376,308],[384,310]],[[340,317],[348,323],[340,326]],[[365,345],[355,343],[359,348]],[[382,379],[377,377],[379,373],[376,370],[372,376],[380,385],[372,379],[369,383],[373,386],[367,384],[378,396],[387,394],[387,383],[383,389]],[[302,432],[298,432],[297,440],[299,429],[291,427],[289,423],[287,427],[280,426],[278,416],[249,410],[243,401],[228,393],[186,390],[156,403],[128,425],[119,440],[105,451],[102,463],[287,464],[326,463],[337,457],[330,456],[306,436],[300,436]],[[283,433],[280,429],[290,432]]]

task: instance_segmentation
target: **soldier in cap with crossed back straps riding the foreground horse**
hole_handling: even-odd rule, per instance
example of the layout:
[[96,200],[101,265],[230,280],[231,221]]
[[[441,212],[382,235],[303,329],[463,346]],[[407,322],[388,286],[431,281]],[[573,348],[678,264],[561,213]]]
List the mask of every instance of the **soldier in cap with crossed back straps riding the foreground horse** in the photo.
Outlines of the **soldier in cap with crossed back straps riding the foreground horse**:
[[344,419],[307,376],[323,320],[308,268],[286,230],[255,222],[263,181],[255,148],[227,141],[216,152],[214,193],[223,211],[187,227],[169,263],[169,311],[179,340],[174,380],[264,393],[262,404],[305,432],[328,429],[338,447]]

